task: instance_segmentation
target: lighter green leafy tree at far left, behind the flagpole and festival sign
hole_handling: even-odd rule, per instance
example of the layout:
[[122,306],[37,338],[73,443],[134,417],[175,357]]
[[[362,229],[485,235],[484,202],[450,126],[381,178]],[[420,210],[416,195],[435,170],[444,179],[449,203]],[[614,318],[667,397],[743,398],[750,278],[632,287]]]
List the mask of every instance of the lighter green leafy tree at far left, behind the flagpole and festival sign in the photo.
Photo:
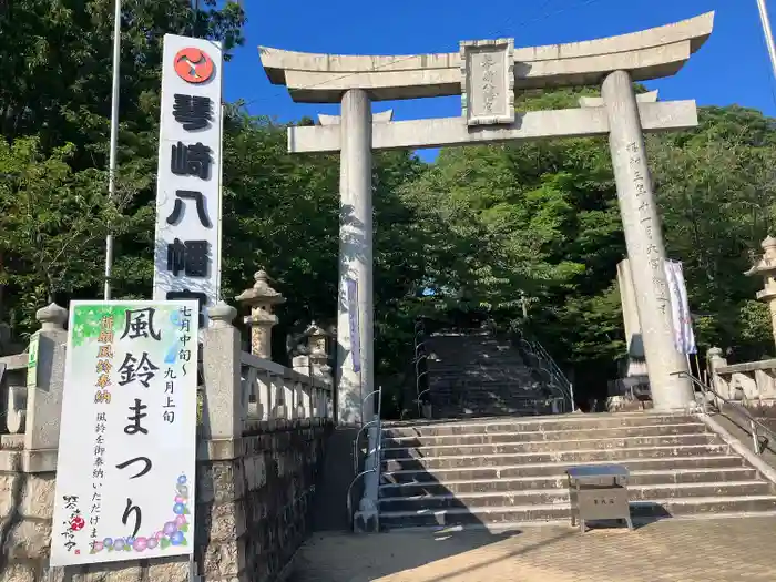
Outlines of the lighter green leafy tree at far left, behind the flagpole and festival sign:
[[24,324],[58,295],[101,282],[93,267],[108,224],[126,226],[126,193],[109,200],[104,173],[73,171],[73,151],[67,144],[47,156],[37,137],[0,141],[0,284],[24,295]]

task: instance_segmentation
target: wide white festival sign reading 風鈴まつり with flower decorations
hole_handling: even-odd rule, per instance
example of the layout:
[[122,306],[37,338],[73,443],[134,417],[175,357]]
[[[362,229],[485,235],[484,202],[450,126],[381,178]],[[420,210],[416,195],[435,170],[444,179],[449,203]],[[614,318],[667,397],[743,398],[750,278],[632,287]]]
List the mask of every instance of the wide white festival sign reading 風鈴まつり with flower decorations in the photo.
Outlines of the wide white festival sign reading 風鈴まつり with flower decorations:
[[197,307],[70,304],[51,565],[192,553]]

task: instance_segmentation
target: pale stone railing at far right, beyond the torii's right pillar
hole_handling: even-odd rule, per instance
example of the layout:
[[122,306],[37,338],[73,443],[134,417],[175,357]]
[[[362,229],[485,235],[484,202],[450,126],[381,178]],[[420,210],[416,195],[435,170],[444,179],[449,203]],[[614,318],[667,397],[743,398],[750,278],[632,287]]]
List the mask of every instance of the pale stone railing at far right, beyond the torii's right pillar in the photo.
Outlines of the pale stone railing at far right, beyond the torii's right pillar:
[[776,407],[776,359],[727,364],[719,348],[709,349],[706,358],[712,387],[722,397],[748,408]]

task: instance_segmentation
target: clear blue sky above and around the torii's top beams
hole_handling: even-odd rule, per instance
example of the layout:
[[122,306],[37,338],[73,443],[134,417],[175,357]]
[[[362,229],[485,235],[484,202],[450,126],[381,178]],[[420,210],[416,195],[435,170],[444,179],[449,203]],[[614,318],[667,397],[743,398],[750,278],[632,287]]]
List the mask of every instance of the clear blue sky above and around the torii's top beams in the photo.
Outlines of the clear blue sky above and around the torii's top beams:
[[[774,2],[772,1],[772,4]],[[455,52],[466,39],[513,37],[515,47],[633,32],[716,11],[714,33],[673,78],[647,83],[662,100],[756,108],[776,116],[776,82],[755,0],[268,0],[245,2],[246,42],[226,65],[224,92],[256,115],[278,121],[337,113],[336,105],[294,103],[269,84],[257,45],[341,54]],[[776,24],[776,9],[769,7]],[[460,115],[460,98],[376,103],[395,120]]]

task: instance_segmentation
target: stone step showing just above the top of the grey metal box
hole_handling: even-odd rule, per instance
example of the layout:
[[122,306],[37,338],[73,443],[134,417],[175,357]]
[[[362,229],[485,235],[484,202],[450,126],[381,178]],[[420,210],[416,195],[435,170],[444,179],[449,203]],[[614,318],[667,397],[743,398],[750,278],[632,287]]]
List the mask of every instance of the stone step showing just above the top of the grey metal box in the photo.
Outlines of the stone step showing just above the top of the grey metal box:
[[[607,464],[607,459],[599,461],[588,461],[585,464]],[[697,456],[697,457],[663,457],[626,459],[620,461],[629,471],[693,471],[693,470],[715,470],[743,468],[744,460],[735,455],[725,456]],[[419,464],[419,463],[417,463]],[[493,467],[470,467],[458,468],[425,468],[415,467],[384,471],[381,473],[384,483],[411,483],[411,482],[449,482],[449,481],[471,481],[480,479],[515,479],[515,478],[542,478],[563,476],[565,471],[574,467],[573,462],[543,462],[533,464],[509,464],[503,463]]]

